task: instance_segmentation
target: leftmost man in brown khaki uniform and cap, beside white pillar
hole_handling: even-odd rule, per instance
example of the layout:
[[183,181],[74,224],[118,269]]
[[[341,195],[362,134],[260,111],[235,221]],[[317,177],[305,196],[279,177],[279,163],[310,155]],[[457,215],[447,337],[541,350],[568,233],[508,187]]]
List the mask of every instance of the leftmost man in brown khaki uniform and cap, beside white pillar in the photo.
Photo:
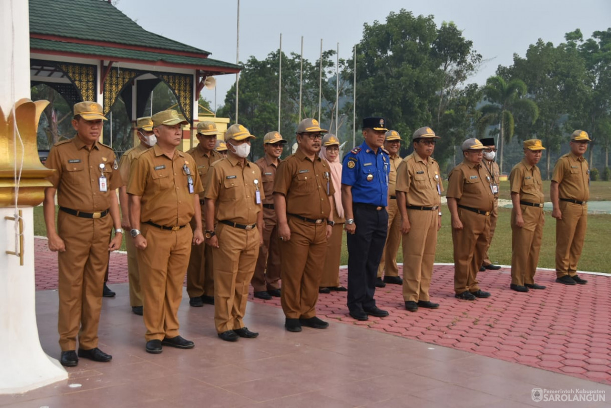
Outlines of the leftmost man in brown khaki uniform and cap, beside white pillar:
[[106,120],[102,112],[95,102],[75,104],[72,126],[76,136],[54,145],[45,163],[56,170],[49,176],[53,187],[45,189],[43,212],[49,250],[59,252],[59,361],[70,367],[78,364],[78,357],[98,362],[112,359],[98,349],[98,324],[109,251],[119,249],[123,237],[115,193],[123,182],[115,171],[114,152],[98,141]]

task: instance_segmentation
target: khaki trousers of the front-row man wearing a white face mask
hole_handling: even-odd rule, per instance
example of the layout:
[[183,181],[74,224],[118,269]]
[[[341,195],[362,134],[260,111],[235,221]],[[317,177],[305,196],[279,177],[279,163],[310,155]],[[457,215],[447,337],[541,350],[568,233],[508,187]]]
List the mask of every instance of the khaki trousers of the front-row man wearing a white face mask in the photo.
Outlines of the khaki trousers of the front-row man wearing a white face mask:
[[219,247],[213,248],[214,325],[216,332],[244,327],[244,313],[259,253],[259,230],[242,230],[219,223]]

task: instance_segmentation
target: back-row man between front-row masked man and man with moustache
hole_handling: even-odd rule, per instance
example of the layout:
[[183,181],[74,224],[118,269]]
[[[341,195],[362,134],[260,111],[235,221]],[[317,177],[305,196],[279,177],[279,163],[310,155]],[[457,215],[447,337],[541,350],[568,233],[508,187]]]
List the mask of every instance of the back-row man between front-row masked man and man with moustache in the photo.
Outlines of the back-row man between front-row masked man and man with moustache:
[[269,132],[263,137],[265,156],[255,164],[263,176],[263,245],[259,248],[259,257],[255,274],[252,277],[254,296],[269,301],[272,296],[280,296],[280,249],[276,211],[274,210],[274,178],[280,162],[280,155],[287,140],[278,132]]

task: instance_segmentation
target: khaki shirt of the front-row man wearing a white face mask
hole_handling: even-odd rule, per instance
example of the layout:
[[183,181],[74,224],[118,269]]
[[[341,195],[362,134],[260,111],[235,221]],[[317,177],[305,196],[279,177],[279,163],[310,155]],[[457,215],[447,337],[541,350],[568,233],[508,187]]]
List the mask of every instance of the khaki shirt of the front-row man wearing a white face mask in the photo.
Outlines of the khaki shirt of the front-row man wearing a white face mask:
[[[256,183],[255,183],[256,181]],[[257,204],[257,191],[263,202],[265,192],[261,188],[261,170],[253,162],[240,166],[238,159],[227,156],[214,162],[208,172],[204,197],[216,202],[216,218],[238,224],[257,223],[261,205]]]

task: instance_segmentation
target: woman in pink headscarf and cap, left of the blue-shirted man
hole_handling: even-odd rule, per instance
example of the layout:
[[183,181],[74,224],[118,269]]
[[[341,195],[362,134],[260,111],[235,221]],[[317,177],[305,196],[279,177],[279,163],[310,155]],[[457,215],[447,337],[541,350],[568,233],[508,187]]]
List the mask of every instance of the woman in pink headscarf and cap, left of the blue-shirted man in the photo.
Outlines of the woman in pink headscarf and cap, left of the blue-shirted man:
[[344,218],[342,206],[342,163],[340,162],[340,141],[332,133],[323,137],[323,145],[318,153],[321,159],[329,164],[331,182],[333,184],[333,230],[327,242],[327,255],[324,258],[323,273],[320,277],[318,293],[331,293],[331,291],[345,292],[347,289],[340,285],[340,263],[342,258],[342,238]]

